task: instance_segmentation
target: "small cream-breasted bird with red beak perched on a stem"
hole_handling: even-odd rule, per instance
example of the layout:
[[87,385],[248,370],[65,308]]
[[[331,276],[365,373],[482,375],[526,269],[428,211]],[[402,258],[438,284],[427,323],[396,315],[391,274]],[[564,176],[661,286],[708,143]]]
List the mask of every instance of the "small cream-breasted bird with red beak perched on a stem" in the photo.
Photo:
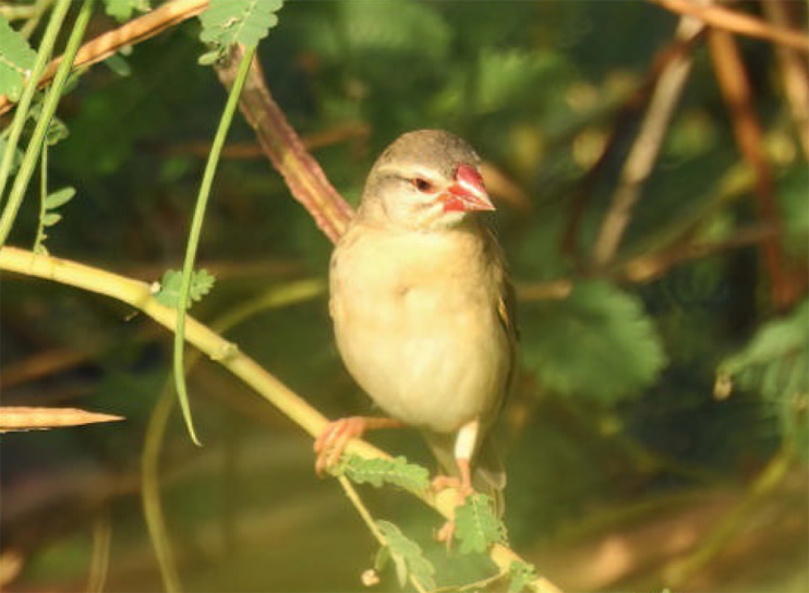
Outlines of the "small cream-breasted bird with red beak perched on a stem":
[[[476,213],[494,210],[464,141],[409,132],[369,173],[331,256],[329,312],[348,371],[389,417],[349,417],[315,441],[318,473],[365,429],[420,429],[459,497],[500,500],[490,428],[508,390],[517,331],[500,247]],[[434,482],[436,483],[436,482]]]

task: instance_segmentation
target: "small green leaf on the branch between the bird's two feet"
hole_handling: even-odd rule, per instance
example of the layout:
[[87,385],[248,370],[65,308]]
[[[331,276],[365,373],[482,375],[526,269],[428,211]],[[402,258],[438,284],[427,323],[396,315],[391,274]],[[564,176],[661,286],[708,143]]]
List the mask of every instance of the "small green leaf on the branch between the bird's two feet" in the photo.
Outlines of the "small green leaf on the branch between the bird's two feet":
[[395,459],[343,456],[331,471],[358,484],[371,484],[377,488],[383,484],[393,484],[416,495],[423,494],[430,486],[430,472],[421,465],[408,463],[401,456]]

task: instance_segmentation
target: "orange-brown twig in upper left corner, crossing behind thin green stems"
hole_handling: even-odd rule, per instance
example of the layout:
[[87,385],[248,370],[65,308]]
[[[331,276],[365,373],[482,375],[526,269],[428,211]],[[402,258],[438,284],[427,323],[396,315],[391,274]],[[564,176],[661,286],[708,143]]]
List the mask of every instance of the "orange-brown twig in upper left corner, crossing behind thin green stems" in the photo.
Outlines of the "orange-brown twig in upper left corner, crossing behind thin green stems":
[[[106,60],[116,51],[125,46],[143,41],[170,28],[178,23],[200,14],[208,5],[208,0],[171,0],[161,7],[121,25],[120,27],[102,33],[92,41],[84,44],[76,52],[73,70]],[[56,74],[61,57],[56,58],[45,69],[39,78],[39,86],[47,86]],[[0,114],[5,113],[14,106],[4,95],[0,95]]]

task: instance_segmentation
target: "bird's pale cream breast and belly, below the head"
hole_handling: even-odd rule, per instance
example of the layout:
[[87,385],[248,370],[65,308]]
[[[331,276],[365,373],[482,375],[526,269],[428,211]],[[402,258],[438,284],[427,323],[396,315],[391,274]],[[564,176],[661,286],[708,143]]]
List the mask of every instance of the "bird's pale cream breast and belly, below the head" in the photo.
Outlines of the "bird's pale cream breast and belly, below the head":
[[510,354],[475,238],[365,233],[346,246],[330,310],[360,386],[390,415],[435,432],[494,408]]

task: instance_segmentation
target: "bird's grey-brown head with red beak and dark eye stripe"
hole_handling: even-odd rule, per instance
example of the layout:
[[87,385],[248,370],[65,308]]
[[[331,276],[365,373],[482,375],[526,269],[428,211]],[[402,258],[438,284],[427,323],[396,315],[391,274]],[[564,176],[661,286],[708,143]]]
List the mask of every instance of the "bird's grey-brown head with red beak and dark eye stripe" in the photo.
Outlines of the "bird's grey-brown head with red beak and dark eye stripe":
[[419,130],[400,136],[374,165],[362,198],[364,216],[396,227],[451,227],[470,211],[494,210],[478,170],[480,157],[458,136]]

